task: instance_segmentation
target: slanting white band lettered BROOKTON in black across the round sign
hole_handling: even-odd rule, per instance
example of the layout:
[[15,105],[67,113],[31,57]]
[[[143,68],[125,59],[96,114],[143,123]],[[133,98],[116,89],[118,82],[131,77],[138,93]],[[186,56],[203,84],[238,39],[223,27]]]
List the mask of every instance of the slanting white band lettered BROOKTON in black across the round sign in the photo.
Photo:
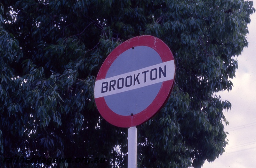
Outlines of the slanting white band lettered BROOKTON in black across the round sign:
[[174,61],[167,61],[136,71],[101,79],[95,82],[94,97],[99,98],[142,88],[174,78]]

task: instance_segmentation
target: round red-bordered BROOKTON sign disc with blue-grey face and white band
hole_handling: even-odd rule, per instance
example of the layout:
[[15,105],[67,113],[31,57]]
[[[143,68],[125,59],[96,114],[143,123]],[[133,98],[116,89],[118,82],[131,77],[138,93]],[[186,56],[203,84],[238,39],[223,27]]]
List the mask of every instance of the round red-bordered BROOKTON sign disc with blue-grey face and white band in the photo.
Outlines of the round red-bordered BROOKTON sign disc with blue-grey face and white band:
[[117,46],[97,75],[94,97],[102,117],[118,127],[148,121],[165,104],[175,78],[170,48],[153,36]]

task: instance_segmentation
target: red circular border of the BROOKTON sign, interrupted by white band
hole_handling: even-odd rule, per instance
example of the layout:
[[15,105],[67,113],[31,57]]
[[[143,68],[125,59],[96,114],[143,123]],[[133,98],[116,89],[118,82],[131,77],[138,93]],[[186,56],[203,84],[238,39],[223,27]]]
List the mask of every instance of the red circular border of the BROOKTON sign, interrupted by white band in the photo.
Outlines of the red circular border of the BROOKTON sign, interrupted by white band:
[[[162,40],[154,36],[148,36],[148,35],[134,37],[117,46],[108,55],[108,57],[100,67],[100,71],[97,75],[96,81],[105,79],[109,67],[112,65],[112,63],[116,60],[116,58],[121,53],[136,46],[148,46],[150,48],[153,48],[160,55],[163,62],[174,60],[170,48]],[[175,69],[175,65],[174,65],[174,69]],[[108,107],[104,97],[96,98],[95,103],[102,117],[105,120],[107,120],[109,123],[115,126],[128,128],[128,127],[140,125],[143,122],[148,121],[164,106],[165,102],[168,100],[168,97],[171,94],[173,84],[174,84],[174,79],[175,79],[175,72],[174,72],[174,78],[172,80],[164,81],[162,83],[162,86],[158,94],[156,95],[155,99],[153,100],[153,102],[146,109],[132,116],[118,115],[115,112],[113,112]]]

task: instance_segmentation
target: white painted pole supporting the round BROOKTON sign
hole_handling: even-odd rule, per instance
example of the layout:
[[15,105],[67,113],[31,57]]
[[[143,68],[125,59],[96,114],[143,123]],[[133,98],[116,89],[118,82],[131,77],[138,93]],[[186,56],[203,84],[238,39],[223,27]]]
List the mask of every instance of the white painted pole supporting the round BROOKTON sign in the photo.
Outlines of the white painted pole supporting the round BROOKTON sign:
[[128,168],[137,167],[137,128],[128,129]]

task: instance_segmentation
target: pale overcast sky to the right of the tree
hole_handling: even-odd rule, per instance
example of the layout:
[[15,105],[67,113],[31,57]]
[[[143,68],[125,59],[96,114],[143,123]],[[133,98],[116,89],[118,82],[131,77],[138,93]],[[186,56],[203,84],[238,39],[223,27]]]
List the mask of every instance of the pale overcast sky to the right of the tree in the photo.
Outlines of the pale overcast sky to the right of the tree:
[[[256,8],[256,0],[253,4]],[[251,15],[248,28],[249,46],[237,58],[234,87],[220,93],[222,99],[232,103],[231,110],[224,113],[229,122],[225,127],[229,144],[219,159],[204,163],[203,168],[256,168],[256,13]]]

